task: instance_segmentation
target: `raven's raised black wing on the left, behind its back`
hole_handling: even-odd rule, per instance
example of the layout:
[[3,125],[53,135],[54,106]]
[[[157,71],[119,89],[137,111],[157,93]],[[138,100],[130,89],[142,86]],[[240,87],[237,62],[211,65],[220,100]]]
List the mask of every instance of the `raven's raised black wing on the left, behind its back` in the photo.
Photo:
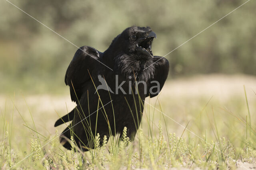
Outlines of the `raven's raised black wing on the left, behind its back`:
[[98,50],[89,46],[83,46],[76,51],[68,66],[65,75],[65,83],[70,86],[71,100],[77,104],[83,93],[82,87],[91,79],[90,74],[96,65],[98,65],[100,55],[102,55],[102,53]]

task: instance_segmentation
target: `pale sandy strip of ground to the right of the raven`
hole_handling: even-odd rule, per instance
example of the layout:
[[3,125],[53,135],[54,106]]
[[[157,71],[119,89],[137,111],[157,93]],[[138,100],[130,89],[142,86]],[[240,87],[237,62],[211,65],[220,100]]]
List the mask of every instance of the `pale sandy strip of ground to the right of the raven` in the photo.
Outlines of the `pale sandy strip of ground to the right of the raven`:
[[246,86],[248,97],[255,97],[255,76],[223,74],[198,75],[191,78],[169,80],[163,87],[161,95],[191,98],[214,96],[225,100],[230,96],[244,96],[243,85]]

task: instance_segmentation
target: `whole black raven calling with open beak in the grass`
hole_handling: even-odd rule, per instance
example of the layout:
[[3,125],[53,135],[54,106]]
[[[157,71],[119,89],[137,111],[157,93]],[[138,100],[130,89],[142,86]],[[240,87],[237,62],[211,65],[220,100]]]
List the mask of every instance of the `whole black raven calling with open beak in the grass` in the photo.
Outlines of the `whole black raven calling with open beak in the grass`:
[[[168,76],[169,63],[154,56],[151,45],[156,33],[150,27],[128,27],[112,41],[104,53],[83,46],[78,49],[65,76],[70,96],[77,106],[58,119],[55,127],[68,121],[60,142],[71,149],[69,140],[84,151],[94,149],[94,138],[122,133],[134,140],[140,125],[144,100],[157,96]],[[107,88],[98,88],[104,78]],[[96,93],[95,93],[96,92]],[[112,93],[113,92],[113,93]]]

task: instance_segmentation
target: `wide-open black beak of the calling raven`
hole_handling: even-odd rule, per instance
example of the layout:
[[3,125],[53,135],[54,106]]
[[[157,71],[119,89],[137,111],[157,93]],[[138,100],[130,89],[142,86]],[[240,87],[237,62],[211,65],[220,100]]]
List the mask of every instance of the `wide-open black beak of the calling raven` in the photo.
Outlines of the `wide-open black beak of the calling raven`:
[[154,57],[151,49],[152,41],[154,38],[156,38],[156,33],[153,31],[144,33],[144,36],[138,40],[137,47],[139,48],[139,51],[145,55]]

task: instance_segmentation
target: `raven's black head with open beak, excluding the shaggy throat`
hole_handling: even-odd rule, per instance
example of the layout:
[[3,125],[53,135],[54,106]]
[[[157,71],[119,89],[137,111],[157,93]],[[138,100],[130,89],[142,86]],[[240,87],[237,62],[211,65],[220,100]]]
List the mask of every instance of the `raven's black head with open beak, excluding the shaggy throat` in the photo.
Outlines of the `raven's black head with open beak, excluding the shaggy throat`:
[[150,27],[132,26],[118,35],[112,44],[127,55],[147,59],[153,57],[151,47],[154,38],[156,33]]

